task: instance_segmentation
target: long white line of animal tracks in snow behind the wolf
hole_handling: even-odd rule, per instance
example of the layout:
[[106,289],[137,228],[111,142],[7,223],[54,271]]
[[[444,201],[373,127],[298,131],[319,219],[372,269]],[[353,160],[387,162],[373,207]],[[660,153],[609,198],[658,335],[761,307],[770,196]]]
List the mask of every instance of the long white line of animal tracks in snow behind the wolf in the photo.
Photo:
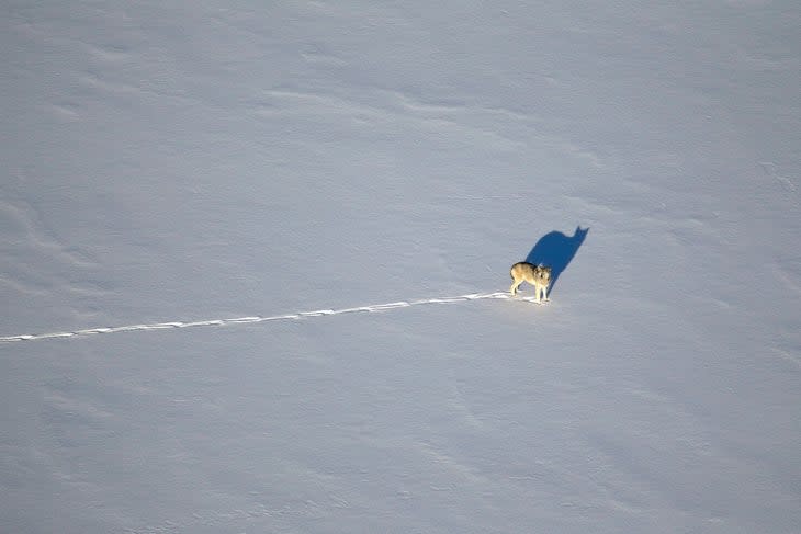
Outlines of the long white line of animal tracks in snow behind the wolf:
[[124,327],[99,327],[99,328],[87,328],[82,330],[63,331],[63,332],[47,332],[47,333],[24,333],[19,336],[5,336],[0,337],[0,342],[10,341],[33,341],[41,339],[58,339],[58,338],[74,338],[76,336],[92,336],[98,333],[116,333],[116,332],[135,332],[135,331],[147,331],[147,330],[166,330],[173,328],[194,328],[194,327],[224,327],[234,325],[249,325],[255,322],[268,322],[268,321],[280,321],[280,320],[298,320],[306,319],[309,317],[323,317],[331,315],[342,314],[358,314],[358,313],[375,313],[385,311],[387,309],[395,308],[408,308],[410,306],[421,306],[424,304],[452,304],[463,303],[470,300],[482,300],[486,298],[500,299],[500,300],[523,300],[534,303],[534,297],[521,297],[510,296],[508,292],[495,292],[495,293],[470,293],[467,295],[459,295],[455,297],[436,297],[436,298],[421,298],[418,300],[398,300],[395,303],[385,304],[373,304],[370,306],[358,306],[353,308],[341,308],[341,309],[315,309],[312,311],[297,311],[294,314],[275,315],[269,317],[261,316],[248,316],[248,317],[235,317],[230,319],[207,319],[201,321],[170,321],[170,322],[154,322],[149,325],[129,325]]

